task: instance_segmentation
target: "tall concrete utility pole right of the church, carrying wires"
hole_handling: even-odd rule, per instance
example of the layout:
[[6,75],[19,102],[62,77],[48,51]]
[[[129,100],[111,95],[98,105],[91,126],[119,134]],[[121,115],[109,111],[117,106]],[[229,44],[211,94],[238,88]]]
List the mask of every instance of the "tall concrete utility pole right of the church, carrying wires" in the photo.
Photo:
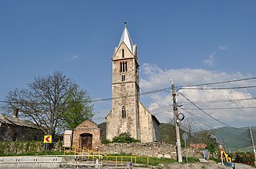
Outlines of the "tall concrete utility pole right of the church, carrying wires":
[[171,90],[172,90],[172,100],[173,100],[173,111],[175,114],[175,130],[176,130],[176,148],[177,148],[177,160],[179,163],[182,163],[182,146],[180,143],[180,136],[179,136],[179,127],[178,127],[178,105],[176,102],[176,91],[175,85],[171,79]]

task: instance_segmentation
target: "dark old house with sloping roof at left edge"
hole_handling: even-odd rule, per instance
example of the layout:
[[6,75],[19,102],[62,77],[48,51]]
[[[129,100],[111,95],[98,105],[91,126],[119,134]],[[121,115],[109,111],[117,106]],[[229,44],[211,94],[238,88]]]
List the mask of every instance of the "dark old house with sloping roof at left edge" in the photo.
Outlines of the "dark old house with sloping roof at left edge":
[[43,132],[31,121],[0,114],[0,141],[43,140]]

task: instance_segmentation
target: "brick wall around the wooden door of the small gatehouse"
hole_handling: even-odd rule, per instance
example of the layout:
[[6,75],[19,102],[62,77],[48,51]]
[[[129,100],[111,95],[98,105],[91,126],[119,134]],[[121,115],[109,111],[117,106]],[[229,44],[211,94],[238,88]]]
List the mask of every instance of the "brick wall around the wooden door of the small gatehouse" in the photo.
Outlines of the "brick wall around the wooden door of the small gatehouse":
[[81,135],[85,133],[92,134],[92,150],[97,150],[101,145],[100,129],[95,122],[90,120],[82,122],[74,129],[72,146],[81,148]]

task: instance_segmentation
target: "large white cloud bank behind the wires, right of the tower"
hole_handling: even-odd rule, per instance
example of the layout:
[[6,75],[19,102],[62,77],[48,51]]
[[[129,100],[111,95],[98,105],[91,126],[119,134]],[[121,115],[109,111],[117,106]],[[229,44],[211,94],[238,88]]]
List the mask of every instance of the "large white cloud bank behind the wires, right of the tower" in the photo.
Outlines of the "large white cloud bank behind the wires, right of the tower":
[[[186,86],[192,84],[203,84],[228,81],[230,79],[243,79],[251,77],[251,75],[243,75],[240,72],[227,73],[215,72],[205,69],[160,69],[157,65],[143,64],[142,78],[140,86],[142,92],[163,89],[171,87],[170,79],[173,79],[175,86]],[[233,86],[255,86],[255,80],[247,80],[236,83],[222,83],[211,87],[233,87]],[[202,86],[200,86],[202,87]],[[205,88],[210,86],[203,86]],[[254,107],[256,100],[252,99],[256,95],[256,90],[253,89],[226,89],[226,90],[178,90],[185,97],[197,104],[219,121],[227,125],[241,127],[247,125],[255,125],[256,117],[254,116],[255,108],[239,108],[239,107]],[[160,122],[167,122],[172,118],[172,97],[171,93],[160,92],[146,95],[150,97],[150,104],[146,107],[156,114]],[[243,100],[251,98],[251,100]],[[144,98],[143,98],[144,99]],[[221,126],[218,121],[210,118],[207,114],[200,111],[197,107],[190,104],[181,94],[177,96],[178,104],[183,105],[179,111],[188,118],[195,118],[197,115],[204,119],[202,123],[210,122],[216,126]],[[233,101],[229,101],[233,100]],[[235,109],[231,109],[236,107]],[[185,110],[184,110],[185,109]],[[211,110],[209,110],[211,109]],[[188,111],[186,111],[188,110]],[[193,114],[191,114],[193,113]],[[255,118],[254,118],[255,117]],[[207,121],[207,122],[206,122]],[[209,125],[209,124],[208,124]],[[211,126],[211,127],[216,127]]]

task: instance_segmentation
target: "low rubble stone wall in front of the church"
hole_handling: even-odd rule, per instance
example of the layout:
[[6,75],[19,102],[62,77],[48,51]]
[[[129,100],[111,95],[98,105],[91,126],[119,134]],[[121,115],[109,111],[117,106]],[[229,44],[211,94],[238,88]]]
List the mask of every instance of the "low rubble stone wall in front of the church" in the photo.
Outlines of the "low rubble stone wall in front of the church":
[[[176,158],[175,146],[167,143],[109,143],[99,146],[99,152],[103,154],[131,154],[137,156]],[[182,150],[182,156],[202,157],[202,150]]]

